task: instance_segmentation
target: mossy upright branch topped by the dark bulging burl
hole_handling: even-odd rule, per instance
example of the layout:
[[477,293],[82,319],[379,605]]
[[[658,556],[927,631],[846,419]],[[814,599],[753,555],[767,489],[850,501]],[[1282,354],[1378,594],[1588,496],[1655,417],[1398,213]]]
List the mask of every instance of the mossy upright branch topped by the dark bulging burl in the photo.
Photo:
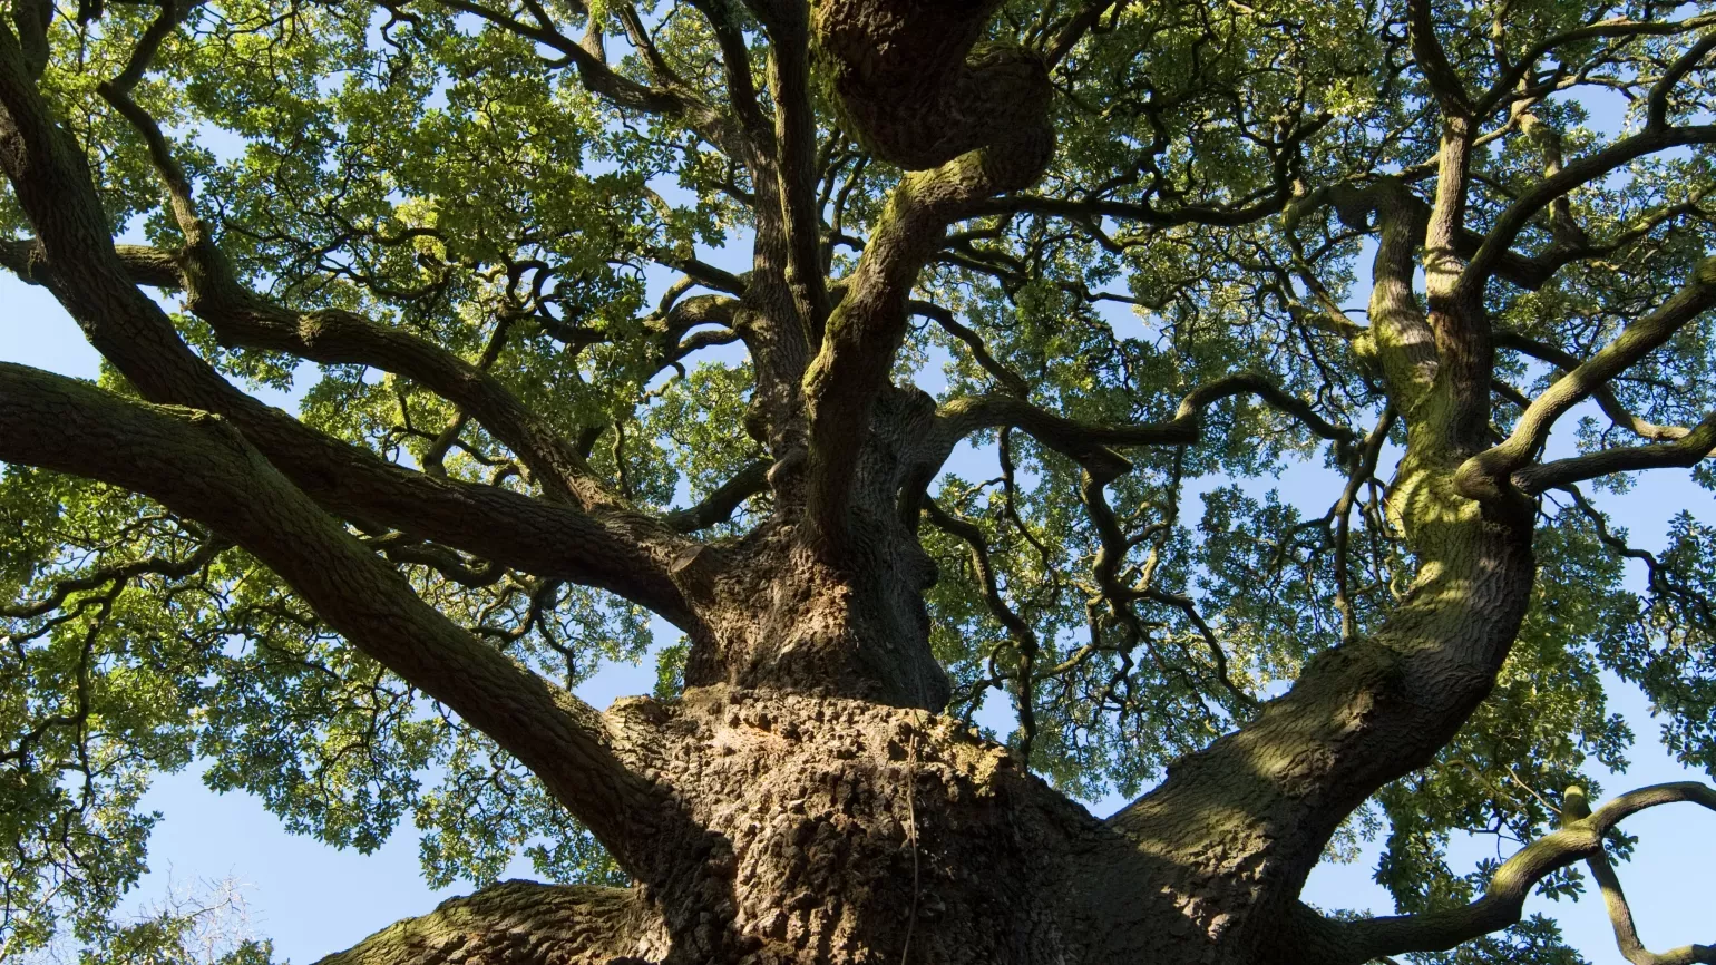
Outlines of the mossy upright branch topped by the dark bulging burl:
[[[813,29],[844,127],[908,170],[829,316],[805,374],[812,541],[846,541],[849,486],[870,407],[887,385],[918,273],[947,225],[1035,182],[1054,155],[1048,72],[1031,52],[976,48],[999,3],[832,0]],[[970,55],[970,58],[968,58]]]

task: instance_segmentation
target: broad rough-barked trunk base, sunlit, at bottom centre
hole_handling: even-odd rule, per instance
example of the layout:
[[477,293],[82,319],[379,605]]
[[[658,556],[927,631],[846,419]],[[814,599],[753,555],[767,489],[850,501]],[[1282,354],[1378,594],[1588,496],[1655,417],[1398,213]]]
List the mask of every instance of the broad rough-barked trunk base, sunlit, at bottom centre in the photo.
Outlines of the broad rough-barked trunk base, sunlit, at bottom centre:
[[673,960],[1109,960],[1081,872],[1121,840],[956,721],[733,687],[613,716],[690,835],[630,862]]

